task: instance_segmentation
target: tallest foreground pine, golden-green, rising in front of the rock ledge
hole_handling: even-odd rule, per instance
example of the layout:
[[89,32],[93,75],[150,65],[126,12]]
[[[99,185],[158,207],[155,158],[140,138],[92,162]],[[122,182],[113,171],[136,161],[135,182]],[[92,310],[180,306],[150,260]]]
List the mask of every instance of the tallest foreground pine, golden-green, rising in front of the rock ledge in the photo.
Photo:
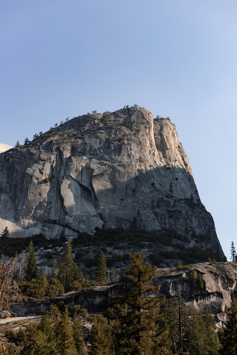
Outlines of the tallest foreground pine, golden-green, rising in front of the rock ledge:
[[132,262],[120,277],[126,293],[115,296],[115,304],[119,304],[115,311],[115,350],[119,354],[150,355],[156,347],[159,299],[154,293],[158,293],[159,288],[153,285],[153,277],[157,275],[157,268],[145,264],[141,252],[129,257]]

